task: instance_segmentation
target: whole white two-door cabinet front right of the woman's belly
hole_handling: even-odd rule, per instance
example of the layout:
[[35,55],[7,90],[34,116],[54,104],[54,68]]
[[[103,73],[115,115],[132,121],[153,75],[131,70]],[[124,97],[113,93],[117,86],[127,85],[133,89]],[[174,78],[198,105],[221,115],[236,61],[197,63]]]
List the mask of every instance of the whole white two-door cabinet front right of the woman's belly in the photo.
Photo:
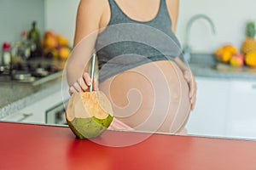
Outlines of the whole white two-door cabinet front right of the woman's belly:
[[195,77],[195,111],[189,134],[256,139],[256,82]]

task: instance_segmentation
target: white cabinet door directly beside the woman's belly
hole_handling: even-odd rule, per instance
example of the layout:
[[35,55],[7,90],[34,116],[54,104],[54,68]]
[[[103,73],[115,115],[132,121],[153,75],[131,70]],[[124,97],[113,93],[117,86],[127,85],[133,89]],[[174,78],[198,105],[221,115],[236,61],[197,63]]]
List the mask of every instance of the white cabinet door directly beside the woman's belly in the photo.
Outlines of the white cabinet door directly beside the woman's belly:
[[230,82],[224,79],[195,77],[195,110],[186,125],[189,134],[225,136],[225,121]]

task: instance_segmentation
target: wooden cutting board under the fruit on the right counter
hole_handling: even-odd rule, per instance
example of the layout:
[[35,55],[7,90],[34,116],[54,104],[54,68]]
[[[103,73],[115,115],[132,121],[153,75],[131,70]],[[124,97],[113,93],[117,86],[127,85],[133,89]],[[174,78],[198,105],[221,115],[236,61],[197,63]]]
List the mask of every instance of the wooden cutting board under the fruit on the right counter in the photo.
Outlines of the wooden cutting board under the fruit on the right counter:
[[249,67],[249,66],[237,67],[237,66],[227,65],[224,63],[217,63],[216,70],[223,71],[223,72],[252,72],[252,73],[256,73],[256,67]]

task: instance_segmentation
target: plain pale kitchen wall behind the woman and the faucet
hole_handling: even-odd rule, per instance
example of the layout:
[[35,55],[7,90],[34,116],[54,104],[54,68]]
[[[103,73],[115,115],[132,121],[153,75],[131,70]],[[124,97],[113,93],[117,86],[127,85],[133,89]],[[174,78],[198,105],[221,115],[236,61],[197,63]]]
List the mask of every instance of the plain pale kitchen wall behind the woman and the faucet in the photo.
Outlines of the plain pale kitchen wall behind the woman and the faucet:
[[[32,20],[37,20],[43,33],[54,30],[73,42],[76,9],[79,0],[1,0],[0,42],[13,42],[20,38],[20,31],[29,30]],[[195,14],[207,14],[216,28],[212,35],[210,26],[198,20],[192,27],[190,40],[195,52],[212,52],[225,42],[237,48],[245,38],[247,21],[256,20],[253,0],[181,0],[177,23],[177,37],[184,42],[185,29]]]

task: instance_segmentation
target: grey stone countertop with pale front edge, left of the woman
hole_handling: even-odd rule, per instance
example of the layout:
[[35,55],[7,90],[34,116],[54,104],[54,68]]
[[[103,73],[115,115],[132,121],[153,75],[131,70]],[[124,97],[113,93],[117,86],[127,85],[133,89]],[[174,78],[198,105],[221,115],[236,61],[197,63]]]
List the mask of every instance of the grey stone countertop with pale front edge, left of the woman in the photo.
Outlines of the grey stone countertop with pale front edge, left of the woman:
[[0,82],[0,119],[61,89],[61,76],[62,71],[57,72],[54,79],[36,86],[26,82]]

